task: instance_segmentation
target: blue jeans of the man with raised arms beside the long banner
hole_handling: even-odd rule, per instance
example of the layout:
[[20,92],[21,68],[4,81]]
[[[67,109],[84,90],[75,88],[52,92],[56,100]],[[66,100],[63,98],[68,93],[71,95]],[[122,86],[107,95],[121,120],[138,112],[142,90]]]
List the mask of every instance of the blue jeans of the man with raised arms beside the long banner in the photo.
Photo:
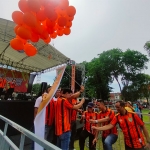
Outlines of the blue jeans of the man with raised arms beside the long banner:
[[57,137],[57,146],[62,150],[69,150],[71,131],[64,132]]

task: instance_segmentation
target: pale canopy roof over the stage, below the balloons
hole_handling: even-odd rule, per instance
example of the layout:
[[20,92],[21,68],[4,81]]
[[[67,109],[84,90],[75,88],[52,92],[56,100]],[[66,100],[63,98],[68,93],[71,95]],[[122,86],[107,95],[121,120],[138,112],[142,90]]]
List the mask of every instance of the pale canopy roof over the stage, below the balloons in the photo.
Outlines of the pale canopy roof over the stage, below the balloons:
[[[28,57],[24,52],[11,48],[9,42],[15,38],[15,23],[0,18],[0,64],[11,66],[23,72],[43,72],[46,69],[67,63],[69,58],[42,40],[32,43],[38,50],[33,57]],[[48,57],[51,58],[48,58]]]

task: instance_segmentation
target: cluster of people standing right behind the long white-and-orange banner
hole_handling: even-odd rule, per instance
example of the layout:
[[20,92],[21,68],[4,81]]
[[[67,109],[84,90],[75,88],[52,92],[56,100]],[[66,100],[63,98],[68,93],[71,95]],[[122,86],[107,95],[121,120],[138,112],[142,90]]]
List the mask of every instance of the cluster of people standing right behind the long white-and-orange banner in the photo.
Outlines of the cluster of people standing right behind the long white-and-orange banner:
[[[51,87],[48,87],[46,92],[50,90]],[[83,91],[83,86],[74,94],[70,89],[58,89],[46,107],[45,139],[62,150],[74,149],[77,112],[81,112],[80,108],[85,101],[82,98],[78,102],[77,98]],[[42,101],[42,96],[38,97],[35,102],[34,117]]]

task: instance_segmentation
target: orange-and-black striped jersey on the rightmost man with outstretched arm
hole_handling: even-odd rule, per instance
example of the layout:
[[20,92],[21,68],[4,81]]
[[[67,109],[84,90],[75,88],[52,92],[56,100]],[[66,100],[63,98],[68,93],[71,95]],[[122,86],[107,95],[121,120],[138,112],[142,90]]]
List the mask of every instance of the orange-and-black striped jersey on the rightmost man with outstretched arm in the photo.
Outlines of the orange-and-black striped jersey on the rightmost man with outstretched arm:
[[137,114],[126,111],[125,115],[117,114],[111,121],[112,125],[119,124],[124,134],[125,144],[131,148],[142,148],[145,145],[140,126],[143,121]]

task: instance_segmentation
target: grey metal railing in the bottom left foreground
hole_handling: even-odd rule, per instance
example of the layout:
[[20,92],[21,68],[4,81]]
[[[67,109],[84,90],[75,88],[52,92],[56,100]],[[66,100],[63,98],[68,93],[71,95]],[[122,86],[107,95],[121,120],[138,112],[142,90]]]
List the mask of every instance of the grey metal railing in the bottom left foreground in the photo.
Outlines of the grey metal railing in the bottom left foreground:
[[[16,124],[15,122],[5,118],[4,116],[0,115],[0,119],[5,122],[4,131],[0,130],[0,150],[23,150],[25,137],[28,137],[32,141],[38,143],[45,150],[61,150],[60,148],[54,146],[53,144],[47,142],[46,140],[44,140],[42,138],[37,137],[34,133],[21,127],[20,125]],[[8,125],[12,126],[13,128],[15,128],[16,130],[18,130],[20,132],[21,139],[20,139],[19,147],[17,147],[6,135]]]

